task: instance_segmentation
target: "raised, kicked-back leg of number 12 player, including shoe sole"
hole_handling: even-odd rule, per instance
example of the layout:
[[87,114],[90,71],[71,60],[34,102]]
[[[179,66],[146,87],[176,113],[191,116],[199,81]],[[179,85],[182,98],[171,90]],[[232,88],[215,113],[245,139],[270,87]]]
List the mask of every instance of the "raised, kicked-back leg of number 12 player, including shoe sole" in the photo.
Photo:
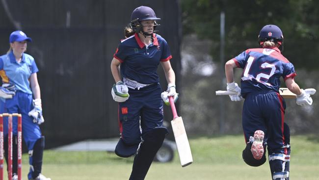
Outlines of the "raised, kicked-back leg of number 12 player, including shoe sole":
[[266,124],[260,104],[255,100],[260,98],[258,96],[261,95],[247,95],[242,111],[242,127],[246,142],[242,158],[250,166],[260,166],[266,162]]

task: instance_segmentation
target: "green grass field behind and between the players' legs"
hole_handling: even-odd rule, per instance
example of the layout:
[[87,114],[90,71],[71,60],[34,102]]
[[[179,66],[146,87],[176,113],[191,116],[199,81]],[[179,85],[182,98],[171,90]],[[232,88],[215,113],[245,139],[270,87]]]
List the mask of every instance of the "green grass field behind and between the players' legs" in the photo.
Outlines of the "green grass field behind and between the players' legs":
[[[319,137],[291,138],[291,180],[319,180]],[[268,162],[250,167],[241,159],[242,135],[190,139],[193,164],[182,168],[177,152],[172,162],[153,163],[146,180],[271,180]],[[23,179],[28,172],[23,155]],[[103,151],[45,150],[43,174],[52,180],[128,180],[133,158]]]

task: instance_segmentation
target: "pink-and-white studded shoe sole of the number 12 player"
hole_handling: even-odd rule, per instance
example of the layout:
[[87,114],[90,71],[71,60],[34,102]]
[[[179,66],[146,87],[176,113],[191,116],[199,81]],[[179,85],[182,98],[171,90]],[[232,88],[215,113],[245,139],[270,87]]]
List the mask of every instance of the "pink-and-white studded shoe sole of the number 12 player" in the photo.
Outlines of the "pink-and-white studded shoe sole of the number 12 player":
[[263,140],[265,137],[265,133],[262,130],[255,131],[254,134],[254,142],[251,145],[251,153],[253,154],[254,158],[259,160],[264,155],[264,146],[263,146]]

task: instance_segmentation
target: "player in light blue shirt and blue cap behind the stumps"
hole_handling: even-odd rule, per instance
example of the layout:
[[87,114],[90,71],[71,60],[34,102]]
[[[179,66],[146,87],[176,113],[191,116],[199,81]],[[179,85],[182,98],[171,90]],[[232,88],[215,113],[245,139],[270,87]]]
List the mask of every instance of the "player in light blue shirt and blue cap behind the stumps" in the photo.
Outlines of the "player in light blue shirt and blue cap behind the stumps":
[[[22,136],[29,152],[30,172],[28,180],[51,180],[41,174],[44,150],[44,136],[39,124],[44,122],[40,87],[37,79],[38,68],[30,55],[26,54],[27,41],[31,38],[17,30],[10,34],[10,49],[0,56],[1,91],[12,94],[12,98],[0,98],[0,113],[19,113],[22,115]],[[4,118],[4,147],[7,161],[8,124]],[[13,118],[13,180],[17,176],[17,119]]]

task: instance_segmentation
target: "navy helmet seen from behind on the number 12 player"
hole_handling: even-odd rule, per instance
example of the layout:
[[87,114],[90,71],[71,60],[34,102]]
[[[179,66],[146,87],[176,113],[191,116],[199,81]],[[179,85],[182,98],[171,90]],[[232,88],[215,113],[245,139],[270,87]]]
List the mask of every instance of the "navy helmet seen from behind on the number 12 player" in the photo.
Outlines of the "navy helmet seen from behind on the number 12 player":
[[280,51],[282,52],[284,50],[284,36],[280,28],[276,25],[266,25],[260,30],[258,35],[259,45],[262,46],[265,41],[277,42],[280,44]]

